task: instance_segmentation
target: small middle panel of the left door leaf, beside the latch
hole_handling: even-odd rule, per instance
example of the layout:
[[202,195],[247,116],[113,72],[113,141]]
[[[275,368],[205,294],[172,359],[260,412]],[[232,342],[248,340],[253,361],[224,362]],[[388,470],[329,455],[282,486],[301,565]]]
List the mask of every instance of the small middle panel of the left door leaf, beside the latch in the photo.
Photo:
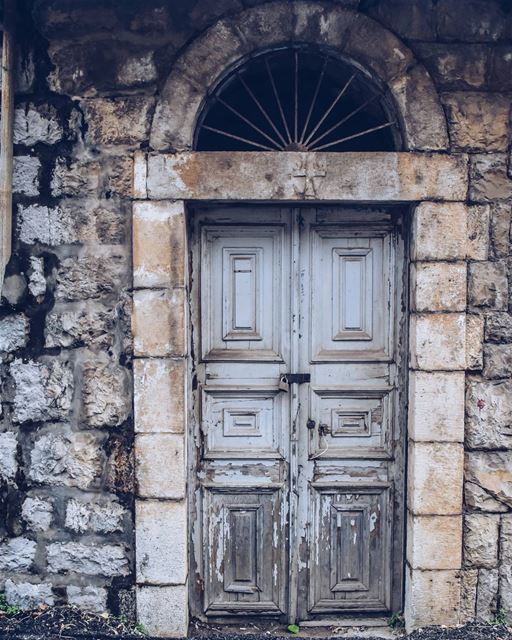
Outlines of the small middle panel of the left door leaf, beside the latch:
[[282,403],[275,390],[202,391],[205,458],[280,458]]

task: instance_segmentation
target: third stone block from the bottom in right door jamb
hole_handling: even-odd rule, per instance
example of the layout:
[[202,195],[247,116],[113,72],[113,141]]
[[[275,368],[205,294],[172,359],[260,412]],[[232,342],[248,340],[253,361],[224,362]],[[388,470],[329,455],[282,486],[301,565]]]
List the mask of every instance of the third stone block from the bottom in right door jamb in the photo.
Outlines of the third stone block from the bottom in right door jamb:
[[462,512],[462,444],[410,443],[407,473],[408,508],[412,513],[454,515]]

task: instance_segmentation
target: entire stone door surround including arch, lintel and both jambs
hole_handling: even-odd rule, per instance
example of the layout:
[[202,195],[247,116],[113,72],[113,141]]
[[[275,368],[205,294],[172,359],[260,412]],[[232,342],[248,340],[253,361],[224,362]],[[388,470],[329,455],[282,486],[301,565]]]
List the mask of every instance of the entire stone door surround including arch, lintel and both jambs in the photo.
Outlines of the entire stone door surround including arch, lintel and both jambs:
[[[194,152],[199,114],[226,73],[287,43],[329,50],[385,86],[404,149],[389,153]],[[482,319],[466,314],[467,261],[485,260],[488,213],[464,204],[468,157],[450,154],[425,68],[378,22],[338,3],[268,2],[219,20],[174,63],[134,163],[133,336],[139,620],[187,631],[186,437],[190,331],[187,202],[408,203],[409,410],[405,618],[459,621],[465,370]]]

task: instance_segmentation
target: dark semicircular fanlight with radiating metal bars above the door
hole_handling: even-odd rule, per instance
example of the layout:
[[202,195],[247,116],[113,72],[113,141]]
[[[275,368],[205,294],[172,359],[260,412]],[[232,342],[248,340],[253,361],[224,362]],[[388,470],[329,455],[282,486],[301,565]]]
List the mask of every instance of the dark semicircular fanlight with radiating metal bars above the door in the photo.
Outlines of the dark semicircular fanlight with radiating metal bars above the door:
[[391,151],[401,146],[385,90],[366,73],[302,47],[251,58],[210,95],[199,151]]

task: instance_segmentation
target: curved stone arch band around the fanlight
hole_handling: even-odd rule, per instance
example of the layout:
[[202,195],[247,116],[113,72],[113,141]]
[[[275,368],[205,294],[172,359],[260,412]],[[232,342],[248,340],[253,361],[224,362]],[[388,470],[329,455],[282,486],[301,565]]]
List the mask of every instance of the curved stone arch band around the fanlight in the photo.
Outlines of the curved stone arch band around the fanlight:
[[219,20],[189,45],[162,90],[151,147],[192,149],[202,105],[224,75],[255,51],[291,42],[329,49],[386,85],[407,149],[448,147],[446,120],[434,83],[393,33],[363,14],[333,4],[282,0]]

